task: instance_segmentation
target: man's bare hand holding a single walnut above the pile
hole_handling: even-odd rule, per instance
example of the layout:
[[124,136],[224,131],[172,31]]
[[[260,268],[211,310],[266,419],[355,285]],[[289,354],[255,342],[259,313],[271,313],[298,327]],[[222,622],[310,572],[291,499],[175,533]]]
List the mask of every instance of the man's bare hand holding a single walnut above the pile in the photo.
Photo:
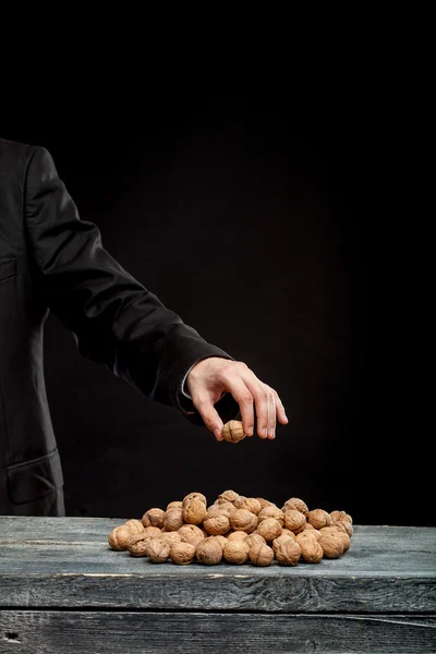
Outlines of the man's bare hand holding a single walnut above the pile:
[[242,424],[246,436],[254,434],[254,409],[256,408],[257,434],[261,438],[276,437],[276,421],[286,425],[288,419],[279,396],[263,384],[245,363],[210,356],[199,361],[186,379],[195,409],[206,427],[222,440],[222,421],[215,403],[223,392],[231,392],[240,405]]

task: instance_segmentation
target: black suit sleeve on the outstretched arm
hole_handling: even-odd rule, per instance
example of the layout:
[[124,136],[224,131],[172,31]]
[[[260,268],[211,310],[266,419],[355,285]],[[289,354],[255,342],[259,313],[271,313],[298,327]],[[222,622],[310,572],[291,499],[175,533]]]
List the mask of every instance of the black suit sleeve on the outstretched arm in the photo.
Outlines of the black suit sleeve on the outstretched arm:
[[[182,392],[183,379],[202,359],[232,356],[206,342],[104,249],[98,228],[80,218],[45,148],[34,148],[27,165],[24,213],[47,306],[74,335],[81,354],[203,425]],[[230,393],[216,409],[225,422],[239,414]]]

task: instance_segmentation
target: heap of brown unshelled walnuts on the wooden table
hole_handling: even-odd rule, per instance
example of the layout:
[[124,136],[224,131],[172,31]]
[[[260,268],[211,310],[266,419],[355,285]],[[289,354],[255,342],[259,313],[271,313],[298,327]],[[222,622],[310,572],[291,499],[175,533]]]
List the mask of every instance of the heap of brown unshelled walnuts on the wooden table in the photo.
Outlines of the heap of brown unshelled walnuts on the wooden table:
[[154,564],[171,559],[178,565],[269,566],[276,560],[295,566],[339,558],[349,549],[352,534],[352,519],[346,511],[310,511],[296,497],[279,509],[266,499],[226,491],[209,507],[204,495],[191,493],[183,501],[171,501],[165,511],[149,509],[142,520],[116,526],[109,545]]

